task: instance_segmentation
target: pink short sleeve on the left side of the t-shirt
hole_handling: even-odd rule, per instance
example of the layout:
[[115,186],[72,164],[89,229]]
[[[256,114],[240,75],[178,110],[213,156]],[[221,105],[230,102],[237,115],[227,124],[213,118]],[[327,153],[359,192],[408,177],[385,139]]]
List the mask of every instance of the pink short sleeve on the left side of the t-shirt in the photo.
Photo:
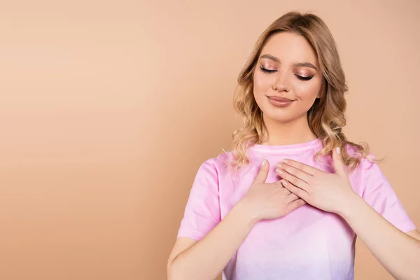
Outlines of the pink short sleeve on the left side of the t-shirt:
[[218,173],[207,160],[197,171],[179,228],[178,237],[200,241],[221,221]]

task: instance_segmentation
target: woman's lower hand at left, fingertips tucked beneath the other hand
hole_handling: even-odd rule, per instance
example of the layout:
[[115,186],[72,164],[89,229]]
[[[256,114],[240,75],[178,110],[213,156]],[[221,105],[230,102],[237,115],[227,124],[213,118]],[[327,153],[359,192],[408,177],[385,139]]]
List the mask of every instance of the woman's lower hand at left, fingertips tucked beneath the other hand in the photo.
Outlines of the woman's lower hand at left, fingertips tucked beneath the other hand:
[[306,204],[297,195],[284,188],[283,180],[265,183],[269,172],[269,162],[262,160],[262,166],[253,184],[239,203],[257,221],[271,220],[286,216],[291,211]]

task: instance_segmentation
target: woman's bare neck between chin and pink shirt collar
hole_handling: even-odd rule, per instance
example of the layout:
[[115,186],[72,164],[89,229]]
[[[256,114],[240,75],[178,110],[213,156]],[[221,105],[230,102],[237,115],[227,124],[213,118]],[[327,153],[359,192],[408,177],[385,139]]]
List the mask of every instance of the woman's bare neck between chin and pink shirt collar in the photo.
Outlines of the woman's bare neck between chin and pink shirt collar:
[[307,116],[302,116],[302,118],[297,118],[287,123],[279,123],[276,120],[264,118],[264,123],[265,127],[267,127],[267,134],[263,137],[262,145],[301,144],[317,138],[309,128]]

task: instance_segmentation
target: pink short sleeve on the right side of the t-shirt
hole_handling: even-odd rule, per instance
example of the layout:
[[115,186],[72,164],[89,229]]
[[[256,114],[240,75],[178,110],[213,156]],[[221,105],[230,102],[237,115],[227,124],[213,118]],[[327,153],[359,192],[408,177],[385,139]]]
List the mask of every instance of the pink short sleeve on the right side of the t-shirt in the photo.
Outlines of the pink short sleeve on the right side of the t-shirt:
[[362,197],[365,202],[402,232],[415,230],[416,225],[407,215],[391,183],[388,182],[377,163],[364,161]]

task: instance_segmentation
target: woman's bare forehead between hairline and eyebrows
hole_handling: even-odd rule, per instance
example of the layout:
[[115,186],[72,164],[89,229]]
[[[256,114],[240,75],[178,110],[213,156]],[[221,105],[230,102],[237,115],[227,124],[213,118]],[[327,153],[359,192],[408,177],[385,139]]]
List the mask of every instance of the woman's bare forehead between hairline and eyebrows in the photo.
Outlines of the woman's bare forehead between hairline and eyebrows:
[[290,32],[272,35],[260,55],[273,55],[282,63],[310,62],[318,65],[316,54],[303,36]]

